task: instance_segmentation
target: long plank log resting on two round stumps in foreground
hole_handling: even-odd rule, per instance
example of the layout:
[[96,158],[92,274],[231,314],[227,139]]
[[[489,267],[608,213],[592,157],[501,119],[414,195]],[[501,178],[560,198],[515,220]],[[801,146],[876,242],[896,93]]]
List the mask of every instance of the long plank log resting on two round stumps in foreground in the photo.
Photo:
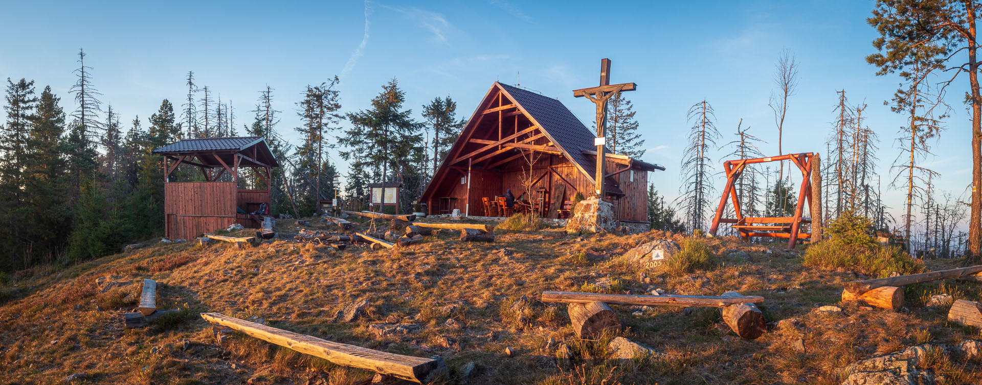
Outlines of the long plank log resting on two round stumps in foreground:
[[764,302],[764,297],[760,296],[739,296],[739,297],[710,297],[710,296],[682,296],[682,295],[663,295],[663,296],[635,296],[627,294],[599,294],[599,293],[578,293],[566,291],[544,291],[542,292],[542,302],[558,302],[568,304],[586,304],[599,301],[615,305],[648,305],[648,306],[674,306],[682,308],[706,307],[723,308],[728,305]]

